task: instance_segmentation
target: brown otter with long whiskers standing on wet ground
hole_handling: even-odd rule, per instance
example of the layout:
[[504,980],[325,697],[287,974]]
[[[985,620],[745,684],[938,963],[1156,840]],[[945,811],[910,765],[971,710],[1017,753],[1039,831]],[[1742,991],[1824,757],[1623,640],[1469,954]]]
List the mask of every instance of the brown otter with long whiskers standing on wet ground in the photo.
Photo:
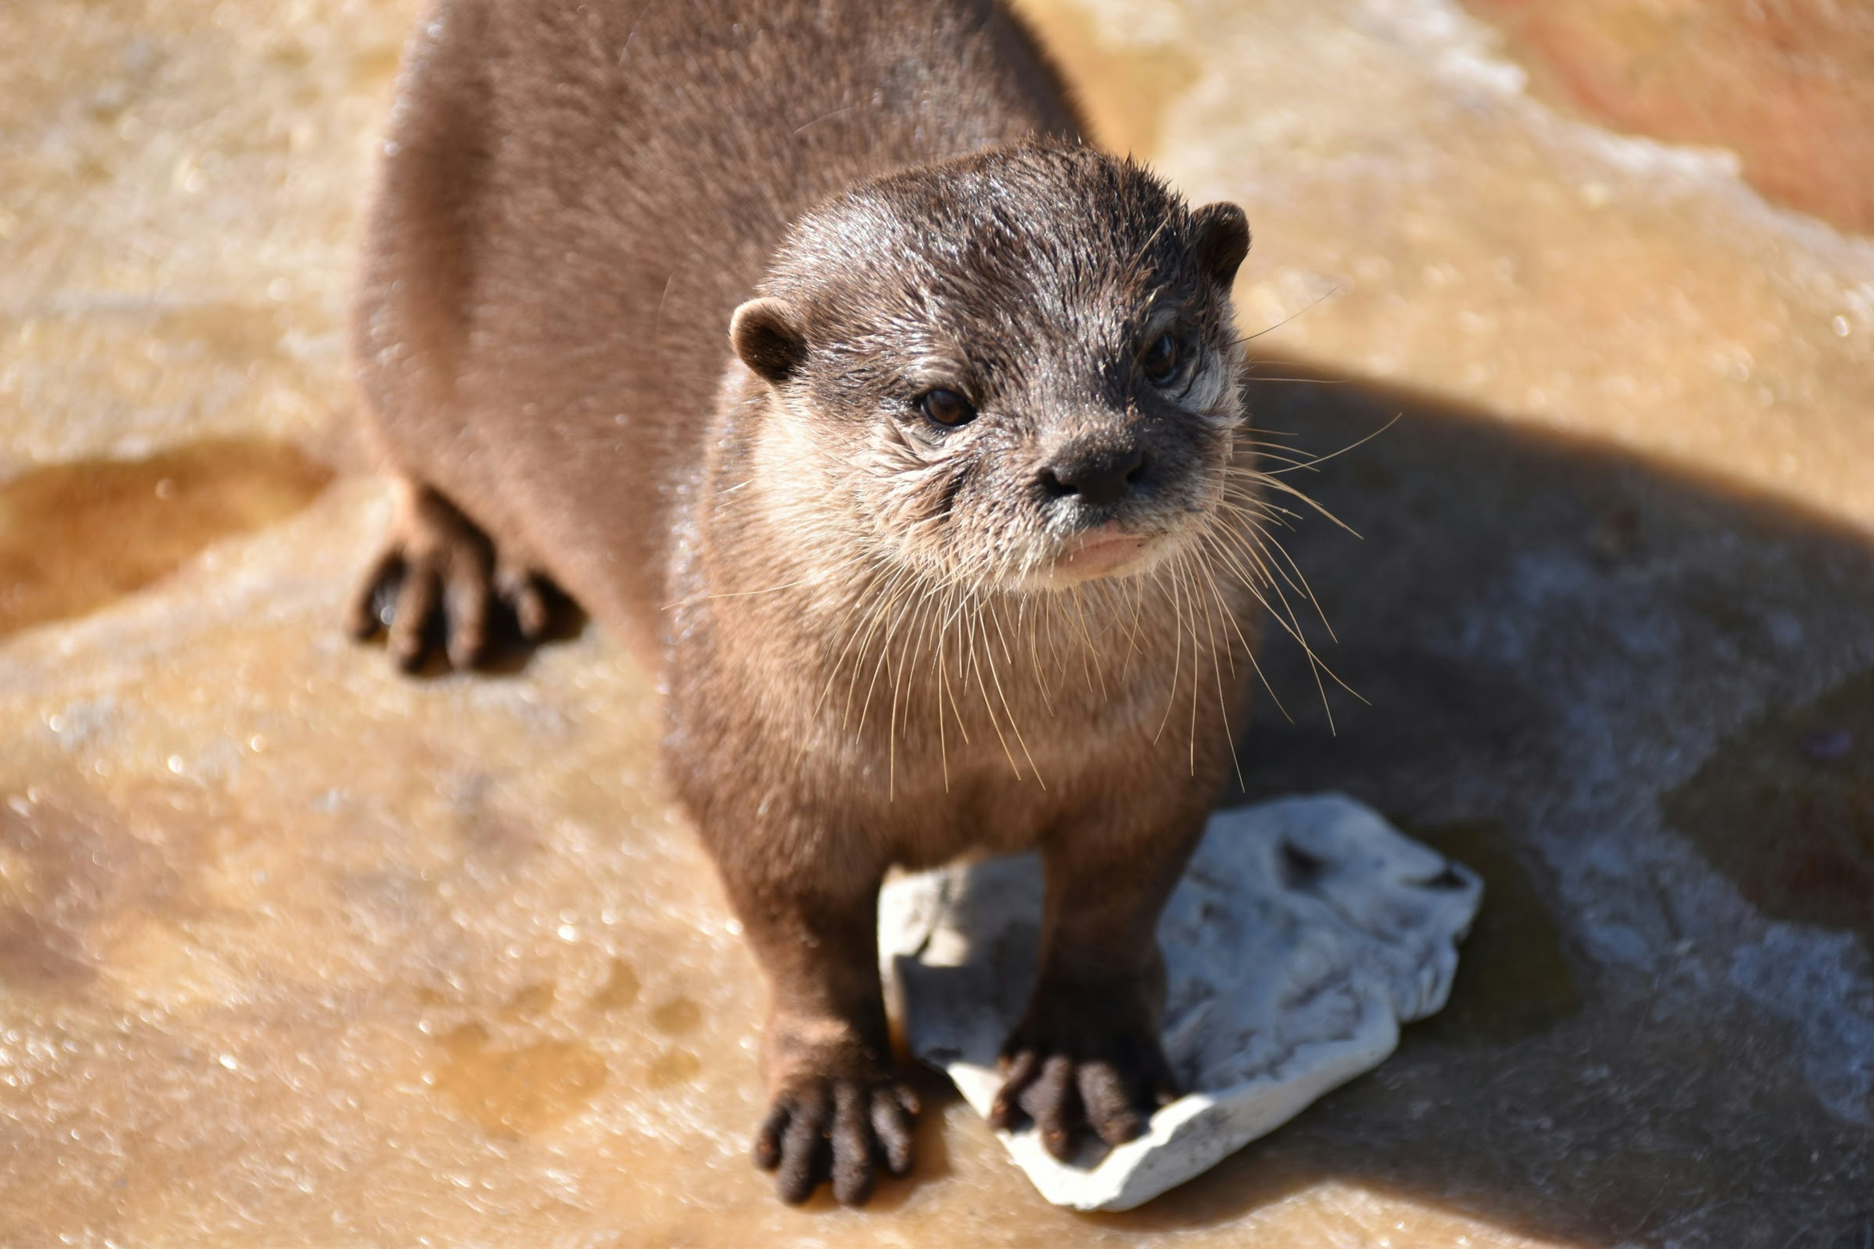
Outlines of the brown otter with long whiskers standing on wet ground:
[[439,0],[399,92],[352,629],[470,669],[558,586],[658,674],[770,989],[781,1198],[911,1170],[877,893],[967,852],[1048,880],[995,1122],[1139,1135],[1272,573],[1242,210],[1087,146],[991,0]]

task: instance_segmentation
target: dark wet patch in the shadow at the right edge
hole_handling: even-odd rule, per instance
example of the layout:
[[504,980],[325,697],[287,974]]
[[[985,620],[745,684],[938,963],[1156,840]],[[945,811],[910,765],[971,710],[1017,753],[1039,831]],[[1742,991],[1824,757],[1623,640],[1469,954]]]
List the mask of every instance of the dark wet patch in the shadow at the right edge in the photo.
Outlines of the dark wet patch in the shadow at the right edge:
[[1874,949],[1874,669],[1728,738],[1660,815],[1763,914]]

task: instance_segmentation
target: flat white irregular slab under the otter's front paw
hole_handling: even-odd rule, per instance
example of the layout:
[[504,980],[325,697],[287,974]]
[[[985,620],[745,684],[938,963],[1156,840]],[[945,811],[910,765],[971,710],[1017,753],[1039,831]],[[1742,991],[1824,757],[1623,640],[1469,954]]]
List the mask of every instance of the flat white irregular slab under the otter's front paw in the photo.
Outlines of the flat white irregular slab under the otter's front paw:
[[[879,949],[913,1052],[988,1114],[1034,977],[1034,856],[894,880]],[[1057,1206],[1130,1210],[1379,1065],[1450,992],[1482,882],[1340,794],[1218,813],[1158,925],[1164,1047],[1190,1090],[1117,1150],[997,1133]]]

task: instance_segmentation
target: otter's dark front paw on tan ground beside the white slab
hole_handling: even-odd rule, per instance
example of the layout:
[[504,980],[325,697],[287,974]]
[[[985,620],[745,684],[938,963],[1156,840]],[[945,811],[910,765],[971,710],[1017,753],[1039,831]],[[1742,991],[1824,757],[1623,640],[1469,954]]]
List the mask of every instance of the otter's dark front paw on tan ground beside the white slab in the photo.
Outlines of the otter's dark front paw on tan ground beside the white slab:
[[823,1180],[843,1206],[864,1206],[879,1167],[911,1174],[916,1094],[883,1077],[804,1077],[774,1097],[755,1135],[755,1165],[776,1172],[774,1191],[798,1206]]

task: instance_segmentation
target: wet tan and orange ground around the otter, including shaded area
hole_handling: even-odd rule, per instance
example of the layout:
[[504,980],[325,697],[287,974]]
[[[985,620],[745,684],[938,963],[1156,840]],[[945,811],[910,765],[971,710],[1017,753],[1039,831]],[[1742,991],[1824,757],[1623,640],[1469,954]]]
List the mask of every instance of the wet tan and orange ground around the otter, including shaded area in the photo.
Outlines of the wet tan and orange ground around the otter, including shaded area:
[[[598,629],[429,682],[341,639],[410,4],[0,11],[0,1243],[1868,1243],[1874,245],[1750,154],[1874,133],[1874,47],[1763,7],[1801,90],[1750,6],[1034,6],[1109,142],[1248,208],[1259,423],[1400,418],[1293,478],[1361,532],[1289,549],[1366,702],[1331,732],[1274,635],[1248,794],[1490,889],[1392,1062],[1119,1217],[935,1082],[916,1182],[774,1204],[645,676]],[[1750,88],[1681,131],[1634,66]]]

